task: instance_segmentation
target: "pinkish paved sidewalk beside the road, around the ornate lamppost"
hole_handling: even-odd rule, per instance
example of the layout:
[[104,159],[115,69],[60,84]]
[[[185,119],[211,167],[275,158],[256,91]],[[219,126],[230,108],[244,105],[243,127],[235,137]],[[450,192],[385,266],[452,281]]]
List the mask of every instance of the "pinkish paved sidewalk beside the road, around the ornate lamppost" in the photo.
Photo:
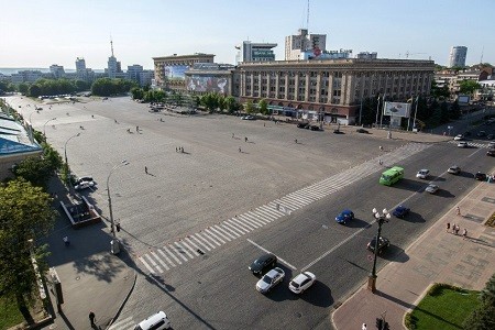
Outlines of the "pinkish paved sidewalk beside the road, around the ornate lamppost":
[[[493,184],[480,183],[444,215],[397,262],[391,262],[377,274],[376,293],[367,283],[332,315],[337,329],[375,329],[375,320],[385,316],[391,329],[405,329],[403,319],[415,308],[433,283],[448,283],[466,289],[482,289],[495,270],[495,228],[483,223],[495,211]],[[446,232],[447,222],[458,224],[460,235]],[[462,230],[469,239],[463,240]]]

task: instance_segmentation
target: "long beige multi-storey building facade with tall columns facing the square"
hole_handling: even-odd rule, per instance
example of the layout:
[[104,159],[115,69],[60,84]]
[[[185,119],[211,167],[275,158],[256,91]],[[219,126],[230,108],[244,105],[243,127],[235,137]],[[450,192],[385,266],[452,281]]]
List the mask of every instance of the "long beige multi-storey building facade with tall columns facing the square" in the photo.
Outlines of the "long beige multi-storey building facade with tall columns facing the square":
[[366,98],[407,100],[428,96],[435,62],[408,59],[323,59],[242,63],[233,78],[241,102],[265,99],[285,110],[324,113],[324,120],[352,124]]

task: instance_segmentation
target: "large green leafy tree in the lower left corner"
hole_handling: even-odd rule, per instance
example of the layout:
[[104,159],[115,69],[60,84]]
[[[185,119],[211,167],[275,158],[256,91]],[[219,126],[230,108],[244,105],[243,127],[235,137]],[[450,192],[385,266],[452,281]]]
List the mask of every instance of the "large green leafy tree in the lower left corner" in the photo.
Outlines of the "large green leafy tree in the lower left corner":
[[51,201],[42,188],[23,179],[0,185],[0,293],[15,297],[23,314],[37,287],[31,256],[41,274],[46,271],[46,245],[37,246],[35,242],[53,227]]

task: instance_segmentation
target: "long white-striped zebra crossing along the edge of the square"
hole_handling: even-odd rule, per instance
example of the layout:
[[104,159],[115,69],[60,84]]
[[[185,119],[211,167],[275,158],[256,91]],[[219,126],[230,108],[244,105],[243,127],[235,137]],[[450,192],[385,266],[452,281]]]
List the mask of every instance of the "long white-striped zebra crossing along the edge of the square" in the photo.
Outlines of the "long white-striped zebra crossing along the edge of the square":
[[[376,158],[342,170],[245,213],[205,228],[175,242],[169,242],[160,249],[150,249],[138,255],[138,260],[153,275],[170,271],[375,174],[382,170],[384,165],[400,164],[405,158],[428,147],[430,144],[409,143],[392,152],[382,153]],[[378,160],[383,162],[383,165]]]

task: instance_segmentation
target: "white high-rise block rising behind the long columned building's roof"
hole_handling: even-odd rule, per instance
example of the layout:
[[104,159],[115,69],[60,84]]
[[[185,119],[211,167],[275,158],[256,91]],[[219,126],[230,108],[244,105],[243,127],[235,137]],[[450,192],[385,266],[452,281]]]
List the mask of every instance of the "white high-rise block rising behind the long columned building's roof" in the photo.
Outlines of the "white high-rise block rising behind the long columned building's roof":
[[308,51],[319,56],[327,48],[327,34],[308,34],[307,29],[299,29],[298,33],[285,37],[285,61],[304,59]]

